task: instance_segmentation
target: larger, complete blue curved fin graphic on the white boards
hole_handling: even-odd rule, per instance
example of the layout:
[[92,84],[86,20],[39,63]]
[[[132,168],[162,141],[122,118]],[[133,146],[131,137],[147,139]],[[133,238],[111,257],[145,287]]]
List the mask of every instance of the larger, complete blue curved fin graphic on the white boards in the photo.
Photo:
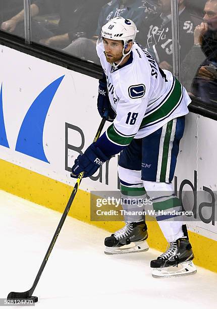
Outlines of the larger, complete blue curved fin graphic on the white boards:
[[49,163],[43,148],[44,123],[52,99],[64,76],[49,84],[30,106],[21,125],[15,150]]

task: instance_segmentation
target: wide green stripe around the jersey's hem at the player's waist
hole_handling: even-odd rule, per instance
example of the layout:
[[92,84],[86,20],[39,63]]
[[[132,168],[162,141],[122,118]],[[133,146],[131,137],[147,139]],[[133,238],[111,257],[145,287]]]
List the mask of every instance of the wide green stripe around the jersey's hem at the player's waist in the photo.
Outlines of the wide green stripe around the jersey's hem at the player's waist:
[[155,122],[169,115],[170,112],[178,104],[181,96],[182,96],[182,85],[177,79],[175,79],[175,86],[169,98],[164,102],[164,104],[158,110],[148,115],[147,117],[143,118],[142,123],[140,125],[140,129],[142,129],[149,123]]

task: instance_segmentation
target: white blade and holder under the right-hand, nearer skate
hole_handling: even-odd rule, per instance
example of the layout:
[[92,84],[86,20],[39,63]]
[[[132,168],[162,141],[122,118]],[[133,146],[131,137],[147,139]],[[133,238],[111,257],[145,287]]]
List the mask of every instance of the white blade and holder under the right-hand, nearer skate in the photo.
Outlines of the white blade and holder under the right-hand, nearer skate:
[[162,267],[152,270],[154,278],[169,278],[196,274],[197,269],[192,261],[178,264],[178,266]]

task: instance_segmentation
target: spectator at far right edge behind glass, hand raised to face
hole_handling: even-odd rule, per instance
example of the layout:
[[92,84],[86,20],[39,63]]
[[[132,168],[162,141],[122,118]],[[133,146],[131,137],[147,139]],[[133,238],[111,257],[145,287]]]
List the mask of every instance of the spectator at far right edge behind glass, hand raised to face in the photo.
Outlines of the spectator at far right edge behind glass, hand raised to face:
[[196,27],[194,38],[206,59],[193,79],[192,93],[207,104],[217,106],[217,0],[207,1],[203,22]]

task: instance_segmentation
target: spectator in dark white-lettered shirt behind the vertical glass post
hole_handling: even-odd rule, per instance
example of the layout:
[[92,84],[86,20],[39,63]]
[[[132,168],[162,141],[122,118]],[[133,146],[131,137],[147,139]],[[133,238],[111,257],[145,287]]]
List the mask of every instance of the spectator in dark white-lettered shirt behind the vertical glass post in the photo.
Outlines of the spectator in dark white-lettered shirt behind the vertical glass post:
[[[179,2],[179,29],[181,61],[194,44],[193,21],[185,6],[185,0]],[[146,37],[148,52],[156,59],[161,69],[173,71],[173,42],[172,42],[172,15],[171,0],[158,0],[161,12],[150,23],[143,18],[143,32]],[[146,32],[144,31],[146,29]],[[138,40],[141,40],[139,34]],[[143,39],[144,40],[144,39]]]

